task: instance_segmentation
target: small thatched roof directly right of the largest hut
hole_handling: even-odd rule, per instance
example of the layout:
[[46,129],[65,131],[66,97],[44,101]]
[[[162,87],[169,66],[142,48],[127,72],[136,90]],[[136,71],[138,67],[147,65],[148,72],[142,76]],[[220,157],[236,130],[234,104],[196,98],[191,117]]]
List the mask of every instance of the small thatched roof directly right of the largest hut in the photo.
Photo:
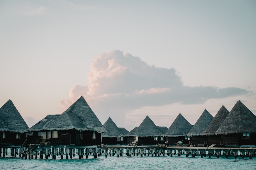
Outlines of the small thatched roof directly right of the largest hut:
[[103,125],[107,131],[107,133],[103,133],[102,137],[118,137],[118,136],[124,136],[123,132],[116,126],[116,124],[112,121],[112,119],[109,117],[109,119],[104,123]]

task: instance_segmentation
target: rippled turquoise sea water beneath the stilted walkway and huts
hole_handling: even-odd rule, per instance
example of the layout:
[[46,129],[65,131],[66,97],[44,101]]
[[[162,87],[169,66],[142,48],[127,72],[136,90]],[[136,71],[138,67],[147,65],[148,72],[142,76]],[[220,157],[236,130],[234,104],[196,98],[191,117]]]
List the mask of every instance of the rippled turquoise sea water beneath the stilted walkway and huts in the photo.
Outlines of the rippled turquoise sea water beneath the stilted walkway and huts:
[[[9,156],[9,155],[8,155]],[[34,157],[35,158],[35,157]],[[64,155],[66,158],[66,155]],[[88,159],[78,159],[76,155],[74,158],[66,160],[60,159],[60,155],[56,156],[56,160],[51,157],[45,159],[21,159],[17,158],[0,158],[0,169],[256,169],[256,157],[244,157],[242,159],[238,156],[229,156],[227,159],[224,155],[220,155],[217,159],[215,155],[211,158],[201,158],[197,155],[196,158],[186,157],[186,154],[180,157],[176,154],[170,156],[131,156],[127,157],[125,154],[121,157],[105,155],[98,156],[97,159],[89,155]]]

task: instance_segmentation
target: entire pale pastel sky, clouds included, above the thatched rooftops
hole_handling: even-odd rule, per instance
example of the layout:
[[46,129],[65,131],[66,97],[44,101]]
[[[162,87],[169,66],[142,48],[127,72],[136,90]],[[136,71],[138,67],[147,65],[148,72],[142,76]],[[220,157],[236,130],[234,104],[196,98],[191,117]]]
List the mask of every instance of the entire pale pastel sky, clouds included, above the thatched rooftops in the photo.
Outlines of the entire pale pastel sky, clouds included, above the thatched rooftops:
[[81,95],[102,124],[256,114],[255,1],[0,1],[0,106],[29,127]]

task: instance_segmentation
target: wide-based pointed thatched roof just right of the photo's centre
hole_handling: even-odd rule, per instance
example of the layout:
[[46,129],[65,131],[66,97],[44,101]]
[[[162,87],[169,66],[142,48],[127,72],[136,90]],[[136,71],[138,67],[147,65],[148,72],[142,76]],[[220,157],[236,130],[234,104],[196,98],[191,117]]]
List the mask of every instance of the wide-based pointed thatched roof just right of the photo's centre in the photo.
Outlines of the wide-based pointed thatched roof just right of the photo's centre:
[[161,136],[162,131],[154,124],[154,122],[146,116],[140,126],[135,127],[131,132],[126,134],[126,136]]

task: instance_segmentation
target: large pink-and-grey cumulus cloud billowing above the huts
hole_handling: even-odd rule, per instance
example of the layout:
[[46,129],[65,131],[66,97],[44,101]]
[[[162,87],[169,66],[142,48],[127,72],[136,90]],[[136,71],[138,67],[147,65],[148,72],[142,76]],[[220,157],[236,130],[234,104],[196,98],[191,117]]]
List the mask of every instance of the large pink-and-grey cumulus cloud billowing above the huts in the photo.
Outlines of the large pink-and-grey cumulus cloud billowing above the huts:
[[[248,93],[235,87],[183,86],[174,68],[149,66],[139,57],[113,50],[93,59],[86,86],[74,85],[69,99],[60,100],[68,108],[82,95],[97,116],[124,119],[131,110],[172,103],[202,104],[208,99]],[[104,122],[103,122],[104,123]]]

